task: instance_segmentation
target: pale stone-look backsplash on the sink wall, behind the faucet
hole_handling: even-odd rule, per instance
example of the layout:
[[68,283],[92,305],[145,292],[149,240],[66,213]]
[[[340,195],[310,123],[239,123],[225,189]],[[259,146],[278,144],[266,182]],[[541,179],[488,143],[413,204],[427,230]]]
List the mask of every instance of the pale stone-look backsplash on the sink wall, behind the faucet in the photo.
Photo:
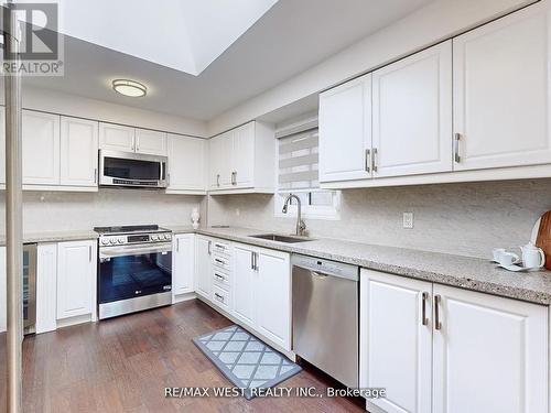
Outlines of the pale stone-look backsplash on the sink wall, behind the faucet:
[[[342,193],[341,220],[306,219],[312,237],[329,237],[471,257],[525,244],[551,209],[551,178],[439,184]],[[413,213],[412,229],[402,213]],[[209,225],[292,232],[295,220],[274,217],[271,195],[210,196]]]

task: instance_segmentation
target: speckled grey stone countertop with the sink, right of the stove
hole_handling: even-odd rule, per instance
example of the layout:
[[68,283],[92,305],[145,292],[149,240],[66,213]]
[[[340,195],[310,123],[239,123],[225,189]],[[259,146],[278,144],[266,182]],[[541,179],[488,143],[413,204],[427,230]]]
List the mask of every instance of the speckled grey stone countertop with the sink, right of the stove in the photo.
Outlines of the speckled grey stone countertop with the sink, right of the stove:
[[169,228],[174,233],[196,232],[531,303],[551,304],[551,272],[549,271],[516,273],[477,258],[327,238],[283,243],[251,238],[252,235],[270,231],[250,228],[199,228],[195,231],[191,226],[169,226]]

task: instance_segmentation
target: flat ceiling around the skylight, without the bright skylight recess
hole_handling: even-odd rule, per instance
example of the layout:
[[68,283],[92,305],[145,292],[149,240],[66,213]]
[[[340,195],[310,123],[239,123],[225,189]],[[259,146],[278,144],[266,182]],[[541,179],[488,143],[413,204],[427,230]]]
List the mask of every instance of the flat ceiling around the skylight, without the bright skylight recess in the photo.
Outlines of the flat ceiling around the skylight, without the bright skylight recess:
[[[65,36],[65,76],[26,77],[23,86],[209,120],[430,1],[279,0],[198,76]],[[125,19],[125,15],[118,18]],[[172,26],[174,24],[162,21],[158,25],[172,32],[177,30]],[[209,30],[216,28],[216,21],[208,23]],[[148,33],[144,29],[142,37],[147,37]],[[139,44],[142,37],[136,42]],[[201,35],[194,40],[195,44],[201,41]],[[164,47],[163,44],[158,46]],[[130,78],[145,84],[148,96],[137,99],[115,94],[110,87],[114,78]]]

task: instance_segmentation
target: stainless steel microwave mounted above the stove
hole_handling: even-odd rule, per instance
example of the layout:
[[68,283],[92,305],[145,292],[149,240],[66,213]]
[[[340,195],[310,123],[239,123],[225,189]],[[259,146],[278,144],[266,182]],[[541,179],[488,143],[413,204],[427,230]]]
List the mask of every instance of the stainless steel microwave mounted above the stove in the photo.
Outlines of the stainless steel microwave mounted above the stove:
[[166,156],[100,150],[99,185],[165,188],[166,166]]

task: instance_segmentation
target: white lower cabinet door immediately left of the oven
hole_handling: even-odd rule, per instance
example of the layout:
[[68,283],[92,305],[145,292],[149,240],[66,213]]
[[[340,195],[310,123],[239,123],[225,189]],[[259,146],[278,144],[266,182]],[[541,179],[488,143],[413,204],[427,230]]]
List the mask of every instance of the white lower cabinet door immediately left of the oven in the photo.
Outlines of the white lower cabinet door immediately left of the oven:
[[57,246],[57,319],[93,313],[95,279],[95,242],[60,242]]

